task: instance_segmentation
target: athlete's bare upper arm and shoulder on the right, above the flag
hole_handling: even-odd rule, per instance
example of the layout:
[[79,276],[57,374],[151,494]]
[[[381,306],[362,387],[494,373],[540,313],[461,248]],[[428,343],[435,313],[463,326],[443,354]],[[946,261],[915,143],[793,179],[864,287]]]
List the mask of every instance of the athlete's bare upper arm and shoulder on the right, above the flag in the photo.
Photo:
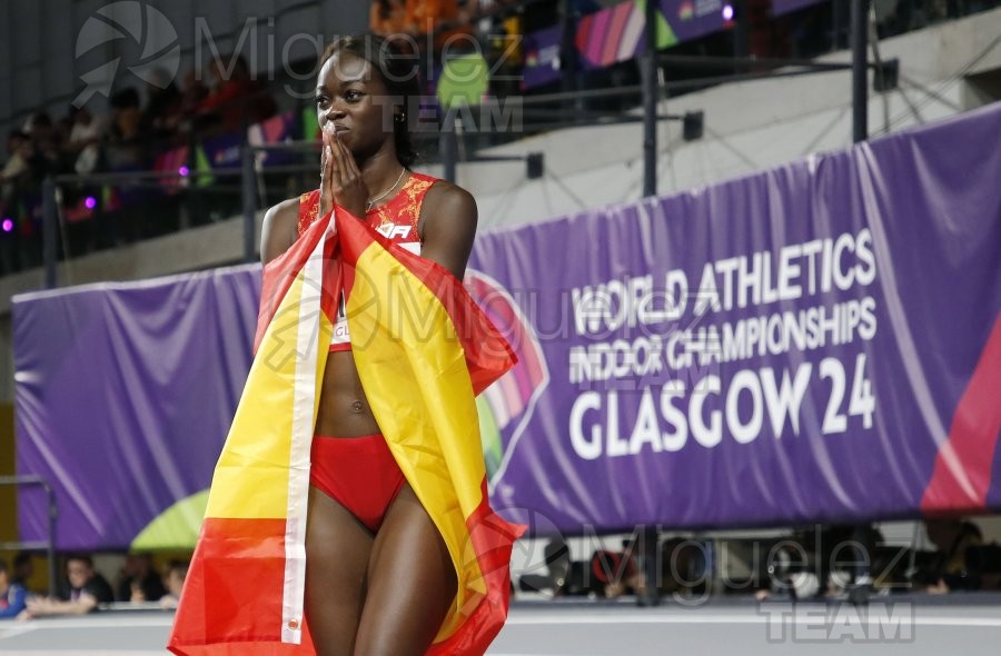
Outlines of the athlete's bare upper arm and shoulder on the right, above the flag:
[[436,261],[463,279],[476,236],[476,200],[462,187],[435,182],[420,207],[420,257]]

